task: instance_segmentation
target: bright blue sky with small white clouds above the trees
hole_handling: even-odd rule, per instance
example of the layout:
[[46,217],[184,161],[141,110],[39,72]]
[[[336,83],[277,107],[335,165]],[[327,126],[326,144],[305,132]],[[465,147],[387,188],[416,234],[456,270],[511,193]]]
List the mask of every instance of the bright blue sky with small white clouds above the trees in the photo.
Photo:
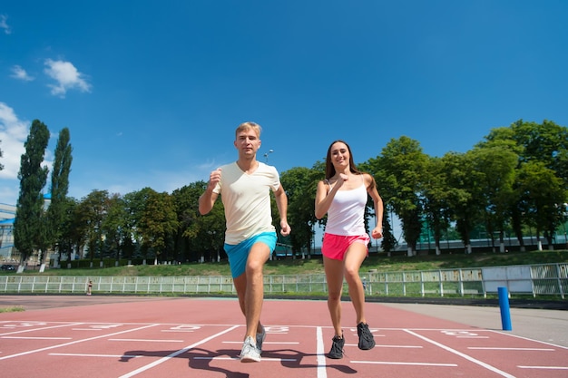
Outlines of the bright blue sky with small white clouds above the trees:
[[567,126],[567,19],[563,0],[3,2],[0,202],[34,119],[47,164],[69,128],[76,199],[208,179],[242,121],[279,171],[337,139],[361,162],[403,135],[441,156],[519,119]]

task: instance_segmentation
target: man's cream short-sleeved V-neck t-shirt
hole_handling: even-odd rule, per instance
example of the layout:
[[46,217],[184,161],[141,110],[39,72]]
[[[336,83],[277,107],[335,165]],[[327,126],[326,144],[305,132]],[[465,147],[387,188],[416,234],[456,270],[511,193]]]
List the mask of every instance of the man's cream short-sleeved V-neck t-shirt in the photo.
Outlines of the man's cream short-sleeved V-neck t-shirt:
[[237,162],[220,169],[220,182],[213,191],[220,194],[225,207],[225,243],[237,245],[262,232],[275,231],[270,189],[276,191],[280,187],[276,168],[259,161],[259,168],[250,174],[240,170]]

